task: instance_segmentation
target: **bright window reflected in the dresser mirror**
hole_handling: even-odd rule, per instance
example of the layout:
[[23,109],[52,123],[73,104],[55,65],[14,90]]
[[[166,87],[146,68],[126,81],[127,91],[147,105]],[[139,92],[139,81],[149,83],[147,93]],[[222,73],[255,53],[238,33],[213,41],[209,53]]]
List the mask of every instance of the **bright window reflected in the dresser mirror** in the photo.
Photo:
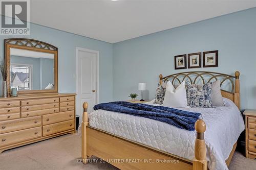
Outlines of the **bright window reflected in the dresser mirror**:
[[10,66],[11,88],[17,87],[18,90],[31,90],[32,67],[30,65]]

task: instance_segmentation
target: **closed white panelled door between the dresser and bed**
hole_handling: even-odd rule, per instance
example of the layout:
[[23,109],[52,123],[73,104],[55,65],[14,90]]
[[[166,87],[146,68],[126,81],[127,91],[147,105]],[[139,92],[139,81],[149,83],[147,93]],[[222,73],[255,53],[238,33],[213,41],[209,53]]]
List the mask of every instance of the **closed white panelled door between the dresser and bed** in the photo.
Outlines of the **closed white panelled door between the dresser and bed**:
[[76,114],[82,120],[82,104],[88,102],[88,112],[98,103],[98,56],[99,52],[86,48],[76,48]]

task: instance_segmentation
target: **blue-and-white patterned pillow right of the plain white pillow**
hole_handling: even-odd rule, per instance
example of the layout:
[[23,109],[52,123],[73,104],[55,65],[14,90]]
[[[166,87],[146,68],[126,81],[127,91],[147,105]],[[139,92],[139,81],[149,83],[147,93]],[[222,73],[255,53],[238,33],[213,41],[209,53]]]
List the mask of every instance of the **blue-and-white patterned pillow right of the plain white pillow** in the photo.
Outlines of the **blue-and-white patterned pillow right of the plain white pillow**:
[[187,105],[190,107],[212,108],[211,102],[212,82],[204,84],[200,89],[187,82]]

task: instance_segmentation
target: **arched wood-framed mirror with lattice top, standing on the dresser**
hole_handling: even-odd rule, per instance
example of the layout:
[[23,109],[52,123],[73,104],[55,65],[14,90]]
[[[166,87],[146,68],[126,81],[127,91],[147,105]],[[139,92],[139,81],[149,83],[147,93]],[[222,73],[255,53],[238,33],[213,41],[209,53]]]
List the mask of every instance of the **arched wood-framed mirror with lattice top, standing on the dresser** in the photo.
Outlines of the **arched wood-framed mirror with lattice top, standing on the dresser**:
[[57,92],[56,47],[50,48],[50,44],[45,43],[44,46],[44,42],[35,40],[28,43],[28,39],[15,39],[15,44],[10,41],[6,41],[8,92],[13,87],[18,89],[19,94]]

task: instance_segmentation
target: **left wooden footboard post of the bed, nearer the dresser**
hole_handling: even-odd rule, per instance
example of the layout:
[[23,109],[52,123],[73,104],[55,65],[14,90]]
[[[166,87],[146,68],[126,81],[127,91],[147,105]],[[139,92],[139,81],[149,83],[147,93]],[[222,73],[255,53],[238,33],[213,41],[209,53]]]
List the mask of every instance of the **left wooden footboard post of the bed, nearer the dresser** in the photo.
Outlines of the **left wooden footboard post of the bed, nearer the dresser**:
[[84,102],[83,105],[83,115],[82,115],[82,162],[84,164],[87,163],[87,136],[86,136],[86,126],[89,125],[88,122],[88,113],[87,113],[87,109],[88,109],[88,103]]

